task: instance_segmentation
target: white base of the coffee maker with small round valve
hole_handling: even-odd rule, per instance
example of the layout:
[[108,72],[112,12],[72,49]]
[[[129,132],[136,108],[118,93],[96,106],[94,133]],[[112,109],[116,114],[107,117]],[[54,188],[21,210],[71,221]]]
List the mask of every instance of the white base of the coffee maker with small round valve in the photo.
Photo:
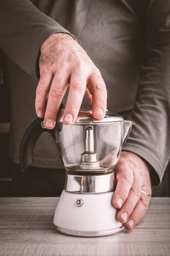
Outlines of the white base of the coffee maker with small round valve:
[[53,223],[70,236],[109,236],[123,230],[112,206],[113,192],[73,193],[63,190],[55,209]]

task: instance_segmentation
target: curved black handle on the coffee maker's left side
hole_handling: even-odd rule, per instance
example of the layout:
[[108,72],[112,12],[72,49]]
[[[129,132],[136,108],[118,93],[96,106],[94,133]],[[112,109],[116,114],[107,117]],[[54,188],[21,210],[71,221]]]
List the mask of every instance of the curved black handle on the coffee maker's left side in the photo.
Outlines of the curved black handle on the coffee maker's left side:
[[23,135],[23,140],[20,144],[20,167],[21,170],[27,170],[28,167],[34,162],[34,146],[36,140],[42,132],[49,132],[55,140],[55,128],[45,129],[42,127],[43,118],[36,118],[26,130]]

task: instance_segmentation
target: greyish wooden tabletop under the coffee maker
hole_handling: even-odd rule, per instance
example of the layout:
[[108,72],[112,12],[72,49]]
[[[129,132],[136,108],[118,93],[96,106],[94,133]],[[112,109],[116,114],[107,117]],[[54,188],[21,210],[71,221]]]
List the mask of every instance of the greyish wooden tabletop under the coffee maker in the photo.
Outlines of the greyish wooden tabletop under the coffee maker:
[[[134,230],[79,238],[53,226],[55,197],[0,197],[0,255],[170,255],[170,198],[153,197]],[[68,213],[69,214],[69,213]]]

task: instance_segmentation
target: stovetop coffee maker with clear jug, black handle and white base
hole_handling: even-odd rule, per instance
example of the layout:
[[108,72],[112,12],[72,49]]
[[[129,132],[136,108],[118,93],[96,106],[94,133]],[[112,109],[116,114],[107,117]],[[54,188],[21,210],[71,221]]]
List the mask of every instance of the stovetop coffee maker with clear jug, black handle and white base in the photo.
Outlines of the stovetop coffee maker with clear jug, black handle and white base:
[[20,146],[22,170],[34,162],[34,146],[42,132],[53,136],[66,169],[65,186],[53,219],[59,232],[96,237],[123,230],[116,219],[117,209],[112,206],[114,168],[132,124],[113,113],[96,120],[91,110],[80,110],[74,124],[66,125],[60,110],[54,129],[46,129],[42,118],[28,127]]

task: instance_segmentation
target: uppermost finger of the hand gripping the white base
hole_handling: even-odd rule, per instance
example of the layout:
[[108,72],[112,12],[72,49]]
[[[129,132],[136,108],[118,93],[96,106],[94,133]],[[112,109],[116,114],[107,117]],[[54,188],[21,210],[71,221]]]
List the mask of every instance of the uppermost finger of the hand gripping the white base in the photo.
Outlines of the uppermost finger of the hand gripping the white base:
[[115,169],[117,186],[112,197],[112,204],[115,208],[121,208],[128,198],[128,193],[134,183],[133,171],[125,165],[117,164]]

